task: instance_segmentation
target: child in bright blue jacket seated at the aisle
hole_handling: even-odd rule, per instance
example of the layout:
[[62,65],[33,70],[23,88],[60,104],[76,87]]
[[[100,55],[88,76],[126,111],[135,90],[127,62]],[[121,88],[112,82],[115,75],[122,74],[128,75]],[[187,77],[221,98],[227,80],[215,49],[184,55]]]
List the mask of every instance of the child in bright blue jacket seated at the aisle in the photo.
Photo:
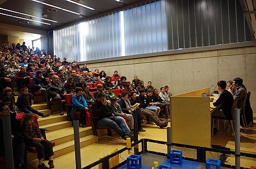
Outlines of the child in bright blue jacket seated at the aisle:
[[86,127],[85,118],[88,106],[85,98],[83,97],[83,89],[81,87],[76,87],[75,93],[73,93],[71,97],[71,102],[73,107],[70,111],[70,116],[73,116],[76,111],[80,112],[80,127]]

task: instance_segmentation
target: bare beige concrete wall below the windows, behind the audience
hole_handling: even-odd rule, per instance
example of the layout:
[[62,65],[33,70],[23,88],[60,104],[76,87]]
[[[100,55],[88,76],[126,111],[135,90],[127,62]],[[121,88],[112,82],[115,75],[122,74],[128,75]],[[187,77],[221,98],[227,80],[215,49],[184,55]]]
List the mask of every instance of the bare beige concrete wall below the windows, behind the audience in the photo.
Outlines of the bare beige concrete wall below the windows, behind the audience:
[[158,90],[168,85],[174,95],[210,87],[211,84],[215,87],[219,80],[241,77],[247,90],[252,92],[250,103],[256,111],[255,47],[167,54],[87,65],[90,71],[104,69],[109,76],[117,70],[121,76],[127,77],[127,81],[132,81],[136,74],[145,83],[152,81],[152,86]]

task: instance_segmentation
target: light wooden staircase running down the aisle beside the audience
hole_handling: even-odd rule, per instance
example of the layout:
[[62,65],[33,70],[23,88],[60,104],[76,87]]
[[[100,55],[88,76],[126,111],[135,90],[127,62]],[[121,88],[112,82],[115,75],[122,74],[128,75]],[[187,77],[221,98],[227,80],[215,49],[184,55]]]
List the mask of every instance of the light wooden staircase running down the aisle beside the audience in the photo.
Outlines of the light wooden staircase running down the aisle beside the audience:
[[[15,95],[19,95],[17,88],[14,88]],[[15,96],[17,101],[18,96]],[[32,107],[41,113],[51,113],[48,109],[45,97],[35,96],[35,104],[32,103]],[[38,117],[38,124],[40,128],[46,128],[50,131],[46,132],[47,140],[54,141],[56,146],[53,147],[53,158],[60,157],[75,151],[74,136],[72,122],[68,121],[66,112],[64,116],[60,116],[59,113],[53,113],[49,117]],[[80,132],[80,147],[85,147],[99,141],[98,136],[94,136],[91,127],[79,128]],[[28,153],[29,168],[37,168],[38,160],[36,153]]]

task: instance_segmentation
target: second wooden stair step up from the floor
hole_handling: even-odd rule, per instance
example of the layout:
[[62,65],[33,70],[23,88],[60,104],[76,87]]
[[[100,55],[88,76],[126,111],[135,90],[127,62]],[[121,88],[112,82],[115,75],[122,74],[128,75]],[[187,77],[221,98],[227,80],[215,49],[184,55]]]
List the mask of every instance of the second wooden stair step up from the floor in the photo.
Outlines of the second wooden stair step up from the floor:
[[[46,133],[47,140],[54,141],[56,145],[74,140],[73,127],[62,128],[57,131],[51,131]],[[92,128],[85,127],[79,128],[80,138],[92,135]]]

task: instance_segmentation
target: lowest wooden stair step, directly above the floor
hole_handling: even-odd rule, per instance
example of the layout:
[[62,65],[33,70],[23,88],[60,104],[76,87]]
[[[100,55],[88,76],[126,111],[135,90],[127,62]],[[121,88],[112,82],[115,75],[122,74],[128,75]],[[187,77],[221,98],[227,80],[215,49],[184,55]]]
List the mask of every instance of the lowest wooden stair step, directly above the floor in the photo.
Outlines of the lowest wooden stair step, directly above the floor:
[[[93,143],[98,142],[98,137],[97,136],[85,136],[80,138],[80,147],[85,147],[88,145],[91,145]],[[54,157],[60,157],[62,155],[65,155],[66,153],[75,151],[75,143],[74,141],[68,141],[66,143],[62,143],[61,145],[56,145],[53,147],[54,151]]]

